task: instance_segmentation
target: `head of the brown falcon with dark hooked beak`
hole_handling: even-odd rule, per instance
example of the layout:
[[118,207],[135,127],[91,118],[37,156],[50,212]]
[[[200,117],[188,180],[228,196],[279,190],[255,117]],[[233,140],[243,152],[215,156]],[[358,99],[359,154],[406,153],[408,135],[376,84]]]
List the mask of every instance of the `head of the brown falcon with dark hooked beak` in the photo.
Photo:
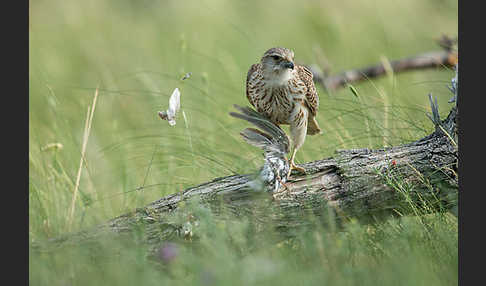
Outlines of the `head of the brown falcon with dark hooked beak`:
[[271,48],[263,54],[260,63],[267,76],[285,79],[294,69],[294,52],[287,48]]

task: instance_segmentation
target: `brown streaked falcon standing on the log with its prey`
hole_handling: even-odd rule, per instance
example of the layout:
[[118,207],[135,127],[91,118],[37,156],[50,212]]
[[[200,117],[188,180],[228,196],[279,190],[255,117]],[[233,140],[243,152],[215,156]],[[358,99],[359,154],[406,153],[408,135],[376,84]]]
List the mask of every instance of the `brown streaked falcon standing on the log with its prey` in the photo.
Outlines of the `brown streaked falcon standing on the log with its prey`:
[[295,165],[295,154],[307,134],[321,133],[315,119],[319,96],[311,71],[294,65],[292,50],[271,48],[263,54],[260,63],[250,67],[246,77],[246,97],[275,125],[290,125],[290,168],[305,173],[304,168]]

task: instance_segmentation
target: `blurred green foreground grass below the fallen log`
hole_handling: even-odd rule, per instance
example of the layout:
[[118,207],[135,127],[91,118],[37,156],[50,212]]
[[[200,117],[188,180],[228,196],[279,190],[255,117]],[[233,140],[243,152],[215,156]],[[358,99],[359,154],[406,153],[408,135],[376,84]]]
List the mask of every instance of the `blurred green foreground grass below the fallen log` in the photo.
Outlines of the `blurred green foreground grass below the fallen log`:
[[[282,239],[251,219],[201,215],[196,239],[162,244],[174,259],[147,257],[133,240],[101,240],[31,254],[36,285],[455,285],[457,220],[402,217],[343,229],[316,227]],[[206,211],[207,212],[207,211]],[[136,235],[134,236],[136,237]]]

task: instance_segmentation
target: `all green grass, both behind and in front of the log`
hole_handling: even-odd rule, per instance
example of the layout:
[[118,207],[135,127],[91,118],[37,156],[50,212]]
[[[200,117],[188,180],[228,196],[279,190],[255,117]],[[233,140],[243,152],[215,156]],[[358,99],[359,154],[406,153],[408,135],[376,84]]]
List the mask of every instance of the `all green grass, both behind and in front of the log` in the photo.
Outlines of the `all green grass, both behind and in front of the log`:
[[[324,55],[339,73],[382,56],[435,50],[442,33],[457,35],[457,1],[439,0],[31,1],[29,15],[30,241],[260,167],[261,152],[238,135],[245,123],[228,112],[247,104],[246,72],[270,47],[292,48],[302,63],[320,64]],[[191,78],[180,81],[187,72]],[[318,86],[324,134],[306,139],[297,162],[427,135],[433,126],[426,95],[438,97],[445,116],[453,75],[436,69],[353,84],[359,97]],[[69,226],[86,114],[98,86]],[[187,121],[181,112],[171,127],[157,111],[176,87]],[[51,143],[62,148],[45,150]],[[350,223],[345,231],[315,230],[283,244],[255,242],[241,234],[248,226],[236,223],[227,226],[234,235],[214,230],[216,238],[182,247],[162,269],[145,258],[143,246],[123,246],[113,258],[108,249],[115,246],[107,243],[107,257],[96,259],[82,247],[31,254],[29,278],[34,285],[457,284],[457,219],[426,220],[427,228],[423,215]]]

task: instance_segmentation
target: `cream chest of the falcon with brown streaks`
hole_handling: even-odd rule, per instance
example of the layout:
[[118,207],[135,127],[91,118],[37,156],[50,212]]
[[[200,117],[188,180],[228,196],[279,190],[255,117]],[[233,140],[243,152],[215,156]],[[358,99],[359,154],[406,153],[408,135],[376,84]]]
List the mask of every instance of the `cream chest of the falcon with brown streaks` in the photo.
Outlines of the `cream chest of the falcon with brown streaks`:
[[303,98],[303,90],[297,85],[266,86],[256,101],[258,112],[276,124],[288,124],[292,112],[298,108],[297,101]]

